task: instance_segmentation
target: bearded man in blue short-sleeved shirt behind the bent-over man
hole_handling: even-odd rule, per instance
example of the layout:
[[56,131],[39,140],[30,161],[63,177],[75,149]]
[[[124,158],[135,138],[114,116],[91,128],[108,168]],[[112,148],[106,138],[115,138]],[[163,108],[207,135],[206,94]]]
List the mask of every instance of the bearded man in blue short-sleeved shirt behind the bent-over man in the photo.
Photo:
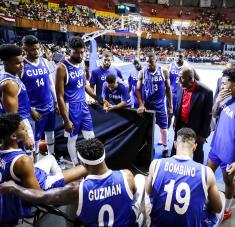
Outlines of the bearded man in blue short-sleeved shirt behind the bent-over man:
[[93,90],[95,88],[96,95],[99,98],[102,97],[102,88],[103,88],[103,84],[105,82],[106,76],[112,74],[120,78],[121,80],[124,80],[121,71],[111,65],[112,58],[113,58],[112,53],[105,51],[103,53],[102,65],[97,67],[91,72],[90,87]]

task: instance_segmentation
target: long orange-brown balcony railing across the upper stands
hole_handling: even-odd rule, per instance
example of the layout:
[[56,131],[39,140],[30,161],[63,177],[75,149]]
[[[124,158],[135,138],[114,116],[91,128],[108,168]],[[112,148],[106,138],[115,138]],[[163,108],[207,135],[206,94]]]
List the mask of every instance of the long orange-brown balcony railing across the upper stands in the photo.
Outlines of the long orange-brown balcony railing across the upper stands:
[[[65,25],[66,29],[64,29],[63,24],[59,23],[52,23],[52,22],[44,22],[44,21],[35,21],[35,20],[28,20],[22,18],[16,18],[16,22],[7,22],[0,19],[0,26],[8,26],[8,27],[21,27],[21,28],[36,28],[42,30],[52,30],[52,31],[68,31],[68,32],[78,32],[78,33],[89,33],[99,30],[98,28],[92,27],[81,27],[76,25]],[[136,34],[118,34],[118,33],[108,33],[108,35],[112,36],[129,36],[129,37],[136,37]],[[147,33],[142,33],[142,38],[146,38]],[[177,35],[169,35],[169,34],[152,34],[152,39],[174,39],[177,40]],[[210,37],[204,36],[182,36],[182,40],[198,40],[198,41],[213,41]],[[230,37],[221,37],[218,38],[218,42],[235,42],[235,38]]]

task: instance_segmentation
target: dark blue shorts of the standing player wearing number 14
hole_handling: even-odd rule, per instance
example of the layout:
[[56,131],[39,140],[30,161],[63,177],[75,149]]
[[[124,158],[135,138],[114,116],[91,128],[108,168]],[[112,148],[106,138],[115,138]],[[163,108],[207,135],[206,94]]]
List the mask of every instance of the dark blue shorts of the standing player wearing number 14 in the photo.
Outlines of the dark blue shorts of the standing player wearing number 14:
[[45,131],[54,131],[56,121],[55,111],[37,111],[41,114],[41,120],[35,122],[35,141],[40,140]]

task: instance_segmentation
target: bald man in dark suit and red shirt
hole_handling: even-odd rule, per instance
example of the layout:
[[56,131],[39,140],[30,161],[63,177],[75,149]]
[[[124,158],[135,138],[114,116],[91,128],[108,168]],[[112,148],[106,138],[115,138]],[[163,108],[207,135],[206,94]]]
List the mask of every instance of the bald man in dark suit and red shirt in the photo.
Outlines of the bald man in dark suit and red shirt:
[[[182,69],[179,83],[181,86],[177,92],[175,134],[183,127],[192,128],[196,132],[197,149],[193,159],[203,163],[203,144],[210,134],[213,93],[208,87],[195,80],[194,70],[190,66]],[[172,155],[174,154],[173,148]]]

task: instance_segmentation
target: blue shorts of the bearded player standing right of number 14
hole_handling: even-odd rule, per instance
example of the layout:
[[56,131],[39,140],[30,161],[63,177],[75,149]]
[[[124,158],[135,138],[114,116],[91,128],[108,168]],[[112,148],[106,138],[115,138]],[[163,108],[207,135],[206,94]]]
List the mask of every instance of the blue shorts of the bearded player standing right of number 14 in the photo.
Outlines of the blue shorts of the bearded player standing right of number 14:
[[[93,131],[92,118],[86,102],[67,103],[66,106],[69,119],[74,125],[74,129],[70,133],[71,137],[79,134],[81,131]],[[64,136],[68,137],[69,133],[65,132]]]

